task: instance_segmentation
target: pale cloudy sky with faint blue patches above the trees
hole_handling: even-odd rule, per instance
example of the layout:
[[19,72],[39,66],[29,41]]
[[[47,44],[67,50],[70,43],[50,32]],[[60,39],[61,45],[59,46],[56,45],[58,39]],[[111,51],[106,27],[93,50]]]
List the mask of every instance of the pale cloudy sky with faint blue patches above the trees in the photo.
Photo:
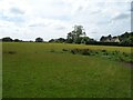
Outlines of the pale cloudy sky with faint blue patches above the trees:
[[74,24],[96,40],[131,31],[131,0],[0,0],[0,38],[65,38]]

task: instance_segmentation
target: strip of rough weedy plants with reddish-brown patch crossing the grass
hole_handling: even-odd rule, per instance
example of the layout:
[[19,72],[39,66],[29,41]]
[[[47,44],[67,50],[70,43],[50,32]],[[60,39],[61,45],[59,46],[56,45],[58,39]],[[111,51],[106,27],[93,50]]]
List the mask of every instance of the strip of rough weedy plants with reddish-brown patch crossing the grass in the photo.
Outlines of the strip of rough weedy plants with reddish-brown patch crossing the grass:
[[132,54],[120,52],[117,50],[115,51],[106,51],[106,50],[90,50],[90,49],[72,49],[70,50],[73,54],[83,54],[83,56],[99,56],[99,57],[105,57],[111,60],[133,63],[133,57]]

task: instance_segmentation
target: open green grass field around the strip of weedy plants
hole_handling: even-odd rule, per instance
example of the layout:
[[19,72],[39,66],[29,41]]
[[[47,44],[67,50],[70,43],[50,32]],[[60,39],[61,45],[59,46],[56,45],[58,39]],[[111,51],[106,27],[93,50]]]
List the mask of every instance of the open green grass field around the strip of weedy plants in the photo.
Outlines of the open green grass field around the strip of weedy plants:
[[130,47],[3,43],[3,98],[130,98],[131,68],[100,56],[62,49],[131,53]]

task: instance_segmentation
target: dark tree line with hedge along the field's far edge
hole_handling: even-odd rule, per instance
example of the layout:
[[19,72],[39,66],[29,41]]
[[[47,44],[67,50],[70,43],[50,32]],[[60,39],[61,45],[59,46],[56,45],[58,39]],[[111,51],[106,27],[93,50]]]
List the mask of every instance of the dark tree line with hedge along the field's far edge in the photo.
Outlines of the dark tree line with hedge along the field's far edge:
[[[11,39],[10,37],[2,38],[3,42],[24,42],[19,39]],[[33,42],[33,41],[28,41]],[[45,42],[43,38],[37,38],[35,42]],[[125,32],[121,36],[112,37],[109,34],[108,37],[102,36],[100,41],[96,41],[86,36],[82,26],[74,26],[73,30],[68,33],[66,39],[51,39],[48,42],[58,42],[58,43],[76,43],[76,44],[98,44],[98,46],[133,46],[133,32]]]

